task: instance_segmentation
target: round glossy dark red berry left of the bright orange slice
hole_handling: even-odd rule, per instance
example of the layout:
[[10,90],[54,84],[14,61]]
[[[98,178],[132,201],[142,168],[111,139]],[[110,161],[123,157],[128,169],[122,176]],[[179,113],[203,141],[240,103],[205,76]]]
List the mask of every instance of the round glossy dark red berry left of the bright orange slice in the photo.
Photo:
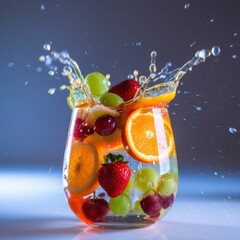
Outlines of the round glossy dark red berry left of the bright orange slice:
[[114,117],[103,115],[96,120],[93,129],[101,136],[108,136],[115,131],[116,127],[117,123]]

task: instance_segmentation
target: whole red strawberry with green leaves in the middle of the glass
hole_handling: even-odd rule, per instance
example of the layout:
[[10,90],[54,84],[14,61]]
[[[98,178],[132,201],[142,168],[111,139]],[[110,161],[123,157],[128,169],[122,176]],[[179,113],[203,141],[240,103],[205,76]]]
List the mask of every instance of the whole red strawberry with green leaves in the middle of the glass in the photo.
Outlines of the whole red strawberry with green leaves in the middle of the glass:
[[127,187],[131,169],[127,162],[123,161],[122,155],[109,153],[104,158],[105,164],[99,169],[98,181],[108,196],[115,198]]

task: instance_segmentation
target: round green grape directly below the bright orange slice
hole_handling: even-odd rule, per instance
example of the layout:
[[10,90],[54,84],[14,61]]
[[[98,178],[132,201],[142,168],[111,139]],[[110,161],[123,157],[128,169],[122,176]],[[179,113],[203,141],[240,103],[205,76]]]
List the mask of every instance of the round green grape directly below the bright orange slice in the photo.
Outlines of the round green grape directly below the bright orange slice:
[[135,174],[134,185],[139,191],[146,193],[150,190],[156,190],[159,179],[160,175],[155,169],[142,168]]

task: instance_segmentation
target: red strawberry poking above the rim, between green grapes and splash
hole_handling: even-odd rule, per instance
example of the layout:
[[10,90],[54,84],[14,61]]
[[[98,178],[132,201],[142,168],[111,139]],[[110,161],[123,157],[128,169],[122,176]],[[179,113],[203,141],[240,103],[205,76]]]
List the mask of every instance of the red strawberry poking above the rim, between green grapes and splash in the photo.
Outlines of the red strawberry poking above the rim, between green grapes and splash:
[[109,92],[117,94],[126,102],[135,97],[140,87],[140,84],[136,80],[127,79],[110,88]]

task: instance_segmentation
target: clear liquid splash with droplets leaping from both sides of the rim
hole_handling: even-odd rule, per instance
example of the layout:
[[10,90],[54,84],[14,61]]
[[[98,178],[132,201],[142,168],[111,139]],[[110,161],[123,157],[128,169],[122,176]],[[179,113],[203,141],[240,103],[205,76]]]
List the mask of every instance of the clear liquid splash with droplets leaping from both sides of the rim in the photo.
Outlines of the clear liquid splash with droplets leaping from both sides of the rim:
[[[44,46],[44,50],[48,52],[51,50],[50,44],[44,44]],[[138,76],[139,73],[137,70],[133,72],[133,75],[131,74],[128,76],[129,78],[138,81],[141,85],[140,90],[132,101],[142,97],[155,97],[176,91],[180,79],[188,71],[191,71],[194,66],[204,62],[206,58],[211,55],[211,52],[213,56],[218,56],[220,54],[220,48],[214,46],[211,51],[208,49],[202,49],[196,52],[195,56],[187,61],[182,67],[170,70],[172,63],[168,62],[160,71],[158,71],[156,64],[157,52],[152,51],[150,55],[149,76]],[[51,51],[48,55],[40,56],[39,61],[43,62],[45,66],[49,68],[48,74],[50,76],[58,74],[58,68],[54,65],[56,62],[63,64],[62,75],[68,77],[69,86],[62,85],[60,90],[69,90],[68,104],[71,108],[84,102],[95,104],[99,101],[99,99],[95,99],[91,96],[89,87],[84,81],[84,77],[77,62],[70,57],[67,51]],[[108,80],[109,78],[110,74],[107,74],[106,79]],[[51,88],[48,93],[52,95],[55,91],[55,88]],[[198,107],[196,110],[200,111],[201,109]]]

